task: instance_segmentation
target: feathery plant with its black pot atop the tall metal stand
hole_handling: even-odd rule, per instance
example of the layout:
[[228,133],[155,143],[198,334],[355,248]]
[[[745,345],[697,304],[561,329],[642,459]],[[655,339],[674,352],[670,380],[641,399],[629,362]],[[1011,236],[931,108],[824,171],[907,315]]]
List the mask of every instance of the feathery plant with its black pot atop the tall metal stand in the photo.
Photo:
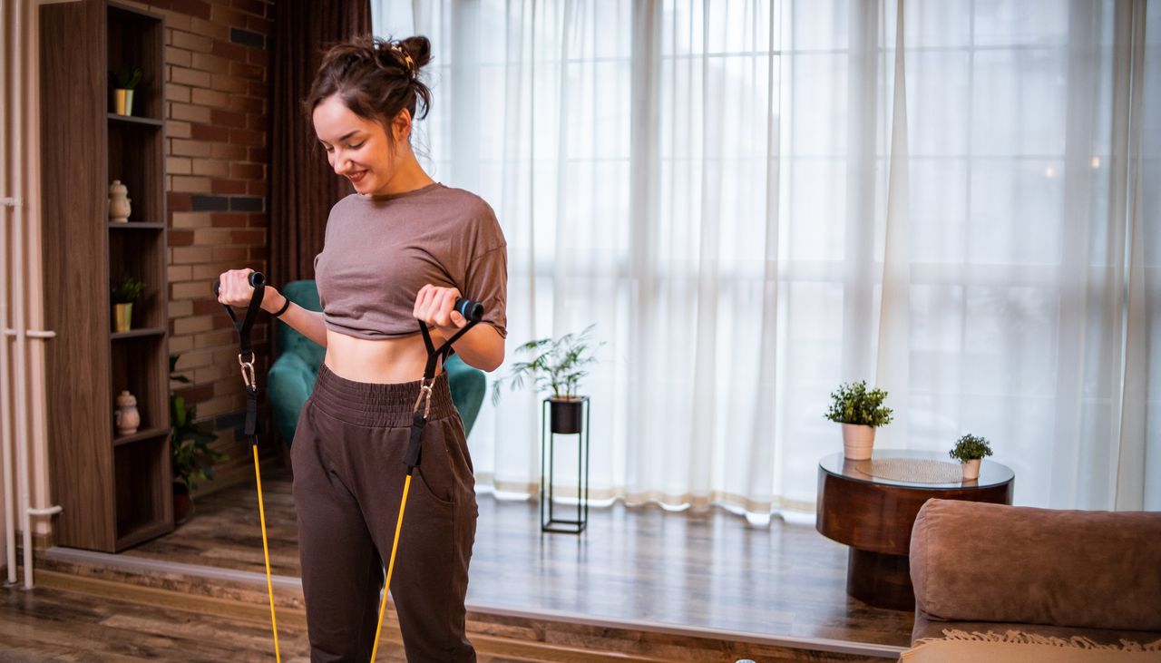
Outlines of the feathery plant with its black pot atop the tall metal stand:
[[[584,399],[577,395],[580,379],[589,373],[585,366],[596,361],[590,334],[593,325],[580,333],[567,333],[561,338],[539,338],[515,348],[517,353],[531,355],[528,361],[518,361],[512,366],[507,380],[511,388],[519,389],[526,377],[534,380],[538,391],[551,389],[549,397],[549,419],[554,433],[580,432],[580,415]],[[504,380],[492,383],[492,403],[499,401],[500,385]]]

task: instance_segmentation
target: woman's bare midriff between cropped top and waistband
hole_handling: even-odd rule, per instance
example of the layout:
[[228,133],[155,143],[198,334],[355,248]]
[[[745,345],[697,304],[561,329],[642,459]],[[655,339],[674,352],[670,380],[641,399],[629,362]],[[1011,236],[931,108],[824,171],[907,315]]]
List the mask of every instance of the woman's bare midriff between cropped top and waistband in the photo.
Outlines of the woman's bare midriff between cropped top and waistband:
[[[435,347],[442,345],[444,336],[439,331],[432,330],[431,334]],[[339,377],[354,382],[413,382],[424,375],[427,348],[419,332],[372,340],[326,330],[323,362]]]

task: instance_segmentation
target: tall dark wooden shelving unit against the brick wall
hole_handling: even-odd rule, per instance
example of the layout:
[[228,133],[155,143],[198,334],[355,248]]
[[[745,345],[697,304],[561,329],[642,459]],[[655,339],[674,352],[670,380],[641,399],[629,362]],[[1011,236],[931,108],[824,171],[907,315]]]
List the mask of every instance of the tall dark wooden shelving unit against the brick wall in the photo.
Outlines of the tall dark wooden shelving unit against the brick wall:
[[[49,444],[57,545],[120,552],[173,529],[165,215],[165,22],[80,0],[41,8]],[[140,67],[131,116],[109,72]],[[109,221],[109,183],[132,201]],[[145,282],[132,329],[114,332],[109,286]],[[117,435],[115,398],[142,423]]]

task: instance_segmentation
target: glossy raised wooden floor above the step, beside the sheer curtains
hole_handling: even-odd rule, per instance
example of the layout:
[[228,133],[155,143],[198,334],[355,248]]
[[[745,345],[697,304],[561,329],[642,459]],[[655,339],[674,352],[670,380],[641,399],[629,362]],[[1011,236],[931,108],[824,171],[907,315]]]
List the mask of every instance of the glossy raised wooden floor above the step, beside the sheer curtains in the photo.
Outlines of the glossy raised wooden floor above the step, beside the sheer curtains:
[[[286,474],[264,476],[271,563],[298,577]],[[907,647],[911,613],[846,596],[845,546],[810,526],[769,528],[721,510],[590,511],[580,536],[542,534],[539,506],[481,496],[468,603],[526,613]],[[203,498],[174,533],[128,555],[265,572],[257,492],[241,485]]]

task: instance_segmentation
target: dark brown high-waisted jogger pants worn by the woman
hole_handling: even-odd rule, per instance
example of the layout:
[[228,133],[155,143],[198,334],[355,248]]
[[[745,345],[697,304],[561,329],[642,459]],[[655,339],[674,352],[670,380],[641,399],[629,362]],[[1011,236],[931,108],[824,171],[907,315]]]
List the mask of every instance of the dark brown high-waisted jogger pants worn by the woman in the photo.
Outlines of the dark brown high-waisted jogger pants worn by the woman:
[[[419,381],[374,384],[319,367],[290,459],[311,663],[367,663],[406,476]],[[411,478],[391,598],[411,663],[475,661],[463,600],[476,492],[447,374]]]

